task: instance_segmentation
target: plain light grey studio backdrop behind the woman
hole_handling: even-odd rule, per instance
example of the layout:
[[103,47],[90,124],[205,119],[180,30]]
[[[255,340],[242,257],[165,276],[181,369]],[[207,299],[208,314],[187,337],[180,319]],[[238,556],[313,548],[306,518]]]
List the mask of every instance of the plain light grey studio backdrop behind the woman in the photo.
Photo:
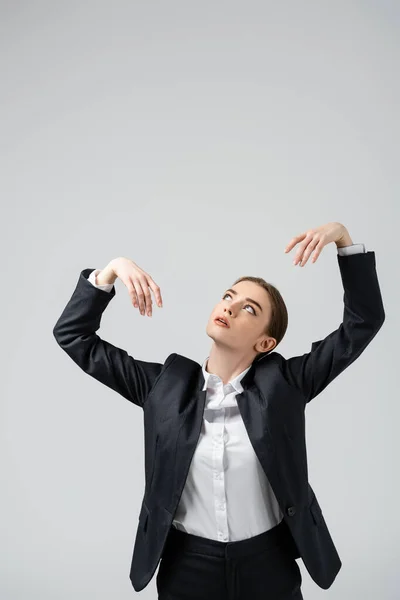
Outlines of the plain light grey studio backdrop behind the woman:
[[[1,2],[0,597],[131,598],[142,414],[81,371],[52,328],[83,268],[127,256],[99,334],[141,360],[201,363],[226,287],[282,292],[289,357],[336,329],[340,221],[376,253],[386,322],[307,406],[310,483],[343,561],[305,599],[399,597],[399,5]],[[155,575],[141,593],[156,598]]]

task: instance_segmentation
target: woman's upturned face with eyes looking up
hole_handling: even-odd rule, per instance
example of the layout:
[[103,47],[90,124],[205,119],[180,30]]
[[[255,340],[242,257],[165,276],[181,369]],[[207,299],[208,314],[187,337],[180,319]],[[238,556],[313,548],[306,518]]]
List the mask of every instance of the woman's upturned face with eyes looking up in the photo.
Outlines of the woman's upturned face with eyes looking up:
[[[216,324],[217,316],[224,317],[230,327]],[[240,281],[223,291],[210,315],[206,333],[219,347],[237,349],[238,354],[251,356],[252,352],[265,352],[276,345],[274,338],[263,333],[270,317],[268,292],[253,281]]]

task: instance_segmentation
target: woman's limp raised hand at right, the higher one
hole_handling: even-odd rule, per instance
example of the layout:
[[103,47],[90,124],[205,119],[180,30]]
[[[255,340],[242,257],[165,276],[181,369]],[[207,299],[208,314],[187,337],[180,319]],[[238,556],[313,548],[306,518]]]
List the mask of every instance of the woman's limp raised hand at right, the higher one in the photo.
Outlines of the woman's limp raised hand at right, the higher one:
[[299,244],[293,264],[300,263],[300,266],[304,267],[312,252],[314,252],[312,262],[315,262],[321,254],[322,248],[331,242],[335,242],[338,248],[350,246],[353,243],[346,227],[342,223],[333,222],[309,229],[292,238],[286,246],[285,252],[289,252],[296,244]]

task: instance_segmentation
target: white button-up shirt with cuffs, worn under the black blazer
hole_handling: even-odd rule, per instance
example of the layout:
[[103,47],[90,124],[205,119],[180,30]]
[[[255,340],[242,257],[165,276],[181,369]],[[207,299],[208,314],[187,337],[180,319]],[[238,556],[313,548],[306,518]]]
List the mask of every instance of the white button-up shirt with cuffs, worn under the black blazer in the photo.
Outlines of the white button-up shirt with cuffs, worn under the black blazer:
[[[345,256],[365,252],[364,244],[338,248]],[[97,285],[105,291],[113,284]],[[203,364],[206,401],[203,423],[173,526],[201,537],[234,542],[253,537],[277,525],[283,518],[244,425],[236,394],[248,367],[226,385]]]

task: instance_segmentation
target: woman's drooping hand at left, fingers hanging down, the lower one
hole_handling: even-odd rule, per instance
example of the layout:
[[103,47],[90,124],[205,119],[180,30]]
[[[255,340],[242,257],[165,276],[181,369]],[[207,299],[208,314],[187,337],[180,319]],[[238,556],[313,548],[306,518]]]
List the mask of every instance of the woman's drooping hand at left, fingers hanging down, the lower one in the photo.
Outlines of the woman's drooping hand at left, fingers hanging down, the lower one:
[[149,317],[152,316],[153,301],[150,289],[153,290],[157,305],[162,308],[160,287],[155,283],[153,278],[134,263],[133,260],[120,256],[114,258],[111,261],[110,266],[115,275],[119,277],[128,288],[133,306],[136,308],[139,305],[141,315],[144,315],[145,312],[147,312]]

